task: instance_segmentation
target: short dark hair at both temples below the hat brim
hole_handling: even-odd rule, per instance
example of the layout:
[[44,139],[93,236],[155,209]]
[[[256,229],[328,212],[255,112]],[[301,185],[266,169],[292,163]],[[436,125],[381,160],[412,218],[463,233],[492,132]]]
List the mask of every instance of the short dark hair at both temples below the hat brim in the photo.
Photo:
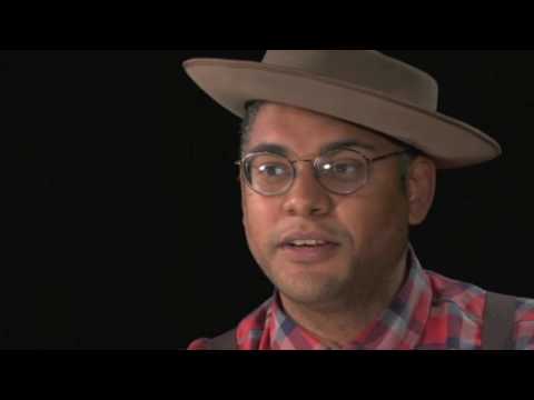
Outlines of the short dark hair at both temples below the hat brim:
[[[240,147],[239,147],[239,153],[241,157],[245,157],[245,149],[248,146],[250,141],[250,132],[253,130],[254,123],[256,121],[256,118],[258,117],[259,111],[261,110],[261,107],[266,103],[266,101],[263,100],[254,100],[249,101],[245,104],[245,117],[243,118],[241,124],[240,124]],[[376,134],[379,134],[384,137],[383,133],[374,131]],[[400,154],[399,161],[398,161],[398,170],[399,170],[399,179],[400,179],[400,190],[403,191],[404,194],[407,194],[407,183],[408,183],[408,174],[409,174],[409,168],[412,167],[413,161],[422,156],[422,152],[415,148],[413,148],[409,144],[406,144],[399,140],[386,137],[387,140],[390,142],[406,148],[407,152],[404,154]]]

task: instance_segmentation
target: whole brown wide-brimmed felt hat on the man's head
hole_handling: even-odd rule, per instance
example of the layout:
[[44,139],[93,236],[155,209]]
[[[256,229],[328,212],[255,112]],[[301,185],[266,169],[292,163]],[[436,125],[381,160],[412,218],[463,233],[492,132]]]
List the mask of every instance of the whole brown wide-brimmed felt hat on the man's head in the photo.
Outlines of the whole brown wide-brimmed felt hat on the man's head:
[[255,100],[304,108],[404,142],[441,169],[502,153],[487,134],[437,111],[434,78],[375,50],[268,50],[261,62],[191,59],[184,68],[240,118]]

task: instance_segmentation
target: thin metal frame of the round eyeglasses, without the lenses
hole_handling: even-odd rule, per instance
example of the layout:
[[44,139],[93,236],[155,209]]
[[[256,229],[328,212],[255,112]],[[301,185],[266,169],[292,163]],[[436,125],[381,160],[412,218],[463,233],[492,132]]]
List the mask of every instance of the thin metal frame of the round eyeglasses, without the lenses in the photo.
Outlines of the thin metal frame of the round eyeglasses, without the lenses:
[[[340,192],[336,192],[329,188],[327,188],[320,180],[319,178],[319,162],[325,159],[327,157],[328,153],[334,153],[334,152],[338,152],[338,151],[342,151],[342,150],[346,150],[346,151],[352,151],[356,154],[358,154],[359,157],[363,158],[363,160],[365,161],[365,166],[366,166],[366,177],[365,177],[365,181],[363,181],[363,184],[358,188],[356,188],[355,190],[350,191],[350,192],[347,192],[347,193],[340,193]],[[277,154],[277,153],[274,153],[274,152],[269,152],[269,151],[260,151],[260,152],[253,152],[253,153],[248,153],[246,154],[241,160],[239,161],[236,161],[235,164],[238,166],[240,168],[240,174],[244,176],[245,178],[245,183],[248,186],[248,188],[250,188],[250,190],[253,190],[254,192],[258,193],[259,196],[264,196],[264,197],[279,197],[279,196],[284,196],[284,194],[287,194],[293,186],[295,184],[295,180],[297,179],[297,169],[295,167],[295,164],[297,162],[310,162],[313,163],[313,167],[314,167],[314,176],[315,178],[317,179],[317,182],[320,184],[320,187],[323,189],[325,189],[327,192],[329,193],[333,193],[333,194],[337,194],[337,196],[350,196],[350,194],[354,194],[356,192],[358,192],[359,190],[362,190],[363,188],[365,188],[368,183],[369,183],[369,180],[373,176],[373,167],[376,162],[378,161],[383,161],[383,160],[386,160],[386,159],[389,159],[389,158],[393,158],[393,157],[397,157],[397,156],[402,156],[402,154],[412,154],[412,156],[415,156],[417,152],[414,151],[414,149],[411,149],[411,148],[405,148],[403,150],[398,150],[398,151],[395,151],[395,152],[390,152],[390,153],[387,153],[387,154],[384,154],[384,156],[379,156],[379,157],[375,157],[375,158],[369,158],[367,156],[365,156],[364,153],[362,153],[360,151],[358,150],[355,150],[350,147],[340,147],[338,149],[335,149],[335,150],[330,150],[324,154],[320,154],[318,157],[316,157],[315,159],[289,159],[287,158],[286,156],[281,156],[281,154]],[[283,191],[280,191],[279,193],[273,193],[273,194],[266,194],[266,193],[261,193],[259,190],[255,189],[254,186],[253,186],[253,182],[247,178],[247,173],[244,172],[244,166],[246,164],[246,162],[251,159],[253,157],[258,157],[258,156],[275,156],[275,157],[278,157],[278,158],[281,158],[281,159],[286,159],[288,161],[288,163],[291,166],[291,170],[293,170],[293,176],[291,176],[291,182],[290,184],[287,187],[287,189],[284,189]]]

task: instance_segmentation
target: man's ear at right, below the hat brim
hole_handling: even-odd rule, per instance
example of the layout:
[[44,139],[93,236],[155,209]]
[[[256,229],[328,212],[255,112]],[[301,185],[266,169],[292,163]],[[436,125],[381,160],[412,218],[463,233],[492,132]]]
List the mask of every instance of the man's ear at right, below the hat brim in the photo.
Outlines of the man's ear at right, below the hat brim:
[[436,166],[426,157],[417,157],[411,166],[407,194],[409,224],[423,223],[431,211],[436,193]]

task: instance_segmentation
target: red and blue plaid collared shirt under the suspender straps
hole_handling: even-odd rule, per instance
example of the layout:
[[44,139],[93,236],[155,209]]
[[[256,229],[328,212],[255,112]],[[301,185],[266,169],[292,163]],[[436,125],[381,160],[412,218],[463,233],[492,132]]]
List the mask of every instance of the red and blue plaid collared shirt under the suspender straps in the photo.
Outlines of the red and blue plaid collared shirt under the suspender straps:
[[[425,271],[411,251],[411,272],[390,307],[354,342],[327,348],[294,322],[275,294],[237,328],[239,350],[478,350],[486,292]],[[534,300],[517,299],[515,348],[534,350]],[[189,350],[204,350],[207,339]]]

